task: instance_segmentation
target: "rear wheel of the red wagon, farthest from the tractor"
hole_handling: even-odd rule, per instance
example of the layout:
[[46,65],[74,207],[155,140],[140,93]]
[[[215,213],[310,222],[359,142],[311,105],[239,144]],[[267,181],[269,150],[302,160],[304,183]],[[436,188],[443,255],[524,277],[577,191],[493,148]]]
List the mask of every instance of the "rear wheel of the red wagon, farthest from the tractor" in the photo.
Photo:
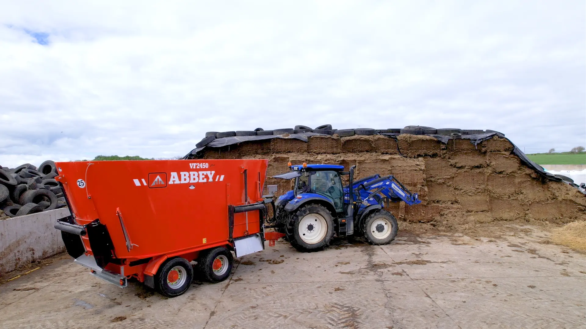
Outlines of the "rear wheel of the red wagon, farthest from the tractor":
[[156,289],[166,297],[176,297],[186,292],[193,279],[193,269],[185,258],[172,258],[156,274]]

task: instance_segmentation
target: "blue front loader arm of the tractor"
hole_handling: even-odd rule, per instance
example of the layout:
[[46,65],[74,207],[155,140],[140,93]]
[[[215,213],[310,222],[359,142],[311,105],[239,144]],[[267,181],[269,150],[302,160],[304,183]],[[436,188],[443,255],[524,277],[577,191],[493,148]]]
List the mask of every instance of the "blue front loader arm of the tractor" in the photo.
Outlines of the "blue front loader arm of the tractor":
[[384,196],[394,199],[400,198],[408,205],[419,204],[419,196],[417,193],[411,193],[400,181],[393,175],[384,177],[373,177],[371,180],[361,180],[355,185],[354,191],[360,195],[360,191],[369,191],[366,198],[372,197],[374,194],[382,193]]

